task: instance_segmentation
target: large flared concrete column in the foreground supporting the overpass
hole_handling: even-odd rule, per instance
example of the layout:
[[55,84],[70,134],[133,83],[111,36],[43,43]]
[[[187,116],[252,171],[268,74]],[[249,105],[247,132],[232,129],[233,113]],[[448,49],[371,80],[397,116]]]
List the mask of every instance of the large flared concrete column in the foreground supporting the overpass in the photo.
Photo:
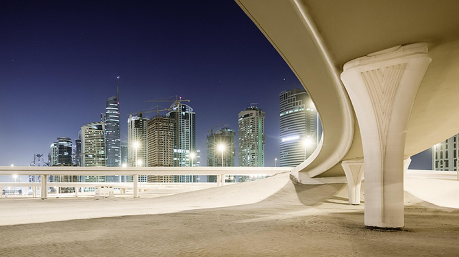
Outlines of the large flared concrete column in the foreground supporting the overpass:
[[403,228],[403,159],[414,99],[431,62],[427,44],[385,49],[351,60],[341,80],[362,137],[365,225]]

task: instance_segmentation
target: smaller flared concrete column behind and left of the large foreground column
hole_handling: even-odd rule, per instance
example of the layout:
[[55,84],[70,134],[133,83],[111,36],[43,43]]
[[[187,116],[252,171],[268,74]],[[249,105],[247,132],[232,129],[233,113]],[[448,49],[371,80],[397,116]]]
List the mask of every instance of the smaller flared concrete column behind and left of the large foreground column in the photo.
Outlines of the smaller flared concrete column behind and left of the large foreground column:
[[364,179],[364,160],[347,160],[341,162],[347,179],[349,204],[360,204],[360,187]]

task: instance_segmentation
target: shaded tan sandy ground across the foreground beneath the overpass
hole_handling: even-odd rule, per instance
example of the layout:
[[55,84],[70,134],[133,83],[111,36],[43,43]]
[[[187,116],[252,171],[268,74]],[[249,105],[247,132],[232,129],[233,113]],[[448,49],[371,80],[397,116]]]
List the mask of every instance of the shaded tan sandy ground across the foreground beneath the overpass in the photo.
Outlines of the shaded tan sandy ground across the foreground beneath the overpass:
[[[241,188],[252,185],[263,188]],[[212,198],[213,190],[223,189],[199,195]],[[348,205],[346,191],[286,180],[261,202],[239,206],[5,225],[0,256],[459,256],[458,209],[406,193],[404,230],[367,230],[364,205]],[[149,201],[160,198],[171,200]]]

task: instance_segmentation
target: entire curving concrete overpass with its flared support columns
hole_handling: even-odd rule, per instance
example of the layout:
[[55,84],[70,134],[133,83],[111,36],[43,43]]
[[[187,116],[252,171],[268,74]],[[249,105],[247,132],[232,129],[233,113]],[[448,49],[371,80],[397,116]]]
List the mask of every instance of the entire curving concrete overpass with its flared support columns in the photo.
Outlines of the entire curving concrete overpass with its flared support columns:
[[322,140],[292,174],[346,175],[357,204],[365,177],[365,225],[402,228],[404,164],[458,132],[459,2],[236,2],[319,111]]

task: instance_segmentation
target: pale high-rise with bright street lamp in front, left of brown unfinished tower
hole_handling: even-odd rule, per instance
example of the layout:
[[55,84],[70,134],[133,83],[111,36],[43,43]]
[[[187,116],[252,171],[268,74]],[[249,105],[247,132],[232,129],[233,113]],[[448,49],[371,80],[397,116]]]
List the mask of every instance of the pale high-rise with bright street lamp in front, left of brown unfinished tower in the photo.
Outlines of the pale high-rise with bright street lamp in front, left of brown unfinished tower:
[[[142,114],[128,118],[128,166],[146,167],[148,165],[148,142],[146,121]],[[130,180],[130,178],[129,178]],[[146,175],[139,175],[140,182],[147,182]]]

